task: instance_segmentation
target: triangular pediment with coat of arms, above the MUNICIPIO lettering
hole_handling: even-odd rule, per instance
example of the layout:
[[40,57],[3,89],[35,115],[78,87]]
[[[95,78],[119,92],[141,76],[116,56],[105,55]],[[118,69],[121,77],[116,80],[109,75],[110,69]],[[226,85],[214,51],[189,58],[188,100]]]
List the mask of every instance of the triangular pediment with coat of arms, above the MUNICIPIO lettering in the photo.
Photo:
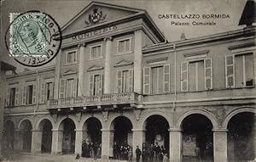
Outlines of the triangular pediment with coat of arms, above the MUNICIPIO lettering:
[[79,31],[86,27],[99,25],[104,22],[119,20],[132,14],[143,11],[136,8],[126,8],[108,3],[92,2],[86,6],[79,14],[61,28],[63,34]]

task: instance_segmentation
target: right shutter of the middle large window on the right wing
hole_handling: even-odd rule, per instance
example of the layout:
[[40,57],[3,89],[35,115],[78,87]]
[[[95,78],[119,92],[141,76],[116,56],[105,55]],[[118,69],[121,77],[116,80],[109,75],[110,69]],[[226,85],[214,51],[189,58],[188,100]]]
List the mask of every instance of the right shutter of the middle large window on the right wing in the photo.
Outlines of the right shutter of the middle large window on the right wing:
[[212,58],[205,59],[205,88],[212,89]]

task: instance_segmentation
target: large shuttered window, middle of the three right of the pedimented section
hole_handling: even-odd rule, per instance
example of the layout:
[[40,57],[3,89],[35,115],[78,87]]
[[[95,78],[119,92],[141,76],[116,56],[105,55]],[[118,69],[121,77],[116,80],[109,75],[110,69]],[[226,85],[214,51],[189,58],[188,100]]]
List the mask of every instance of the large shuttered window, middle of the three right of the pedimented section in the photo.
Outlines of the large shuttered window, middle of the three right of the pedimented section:
[[212,89],[212,59],[181,64],[181,91],[195,92]]

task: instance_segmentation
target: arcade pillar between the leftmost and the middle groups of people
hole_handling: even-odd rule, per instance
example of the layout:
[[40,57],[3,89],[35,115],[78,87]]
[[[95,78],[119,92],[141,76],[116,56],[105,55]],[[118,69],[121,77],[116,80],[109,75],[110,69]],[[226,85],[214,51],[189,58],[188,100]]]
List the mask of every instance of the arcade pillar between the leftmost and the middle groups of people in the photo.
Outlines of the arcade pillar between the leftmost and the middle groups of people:
[[112,136],[113,130],[102,129],[102,159],[109,159],[109,156],[113,156],[113,150],[110,150],[110,145],[113,145],[110,142]]

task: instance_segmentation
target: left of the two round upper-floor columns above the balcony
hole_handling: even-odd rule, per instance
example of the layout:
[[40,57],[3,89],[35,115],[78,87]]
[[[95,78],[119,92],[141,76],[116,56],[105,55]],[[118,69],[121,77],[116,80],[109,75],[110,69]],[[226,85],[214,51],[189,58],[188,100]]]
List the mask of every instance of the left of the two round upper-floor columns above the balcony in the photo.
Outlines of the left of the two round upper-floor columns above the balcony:
[[84,95],[84,64],[85,64],[85,43],[79,44],[79,92],[78,96]]

